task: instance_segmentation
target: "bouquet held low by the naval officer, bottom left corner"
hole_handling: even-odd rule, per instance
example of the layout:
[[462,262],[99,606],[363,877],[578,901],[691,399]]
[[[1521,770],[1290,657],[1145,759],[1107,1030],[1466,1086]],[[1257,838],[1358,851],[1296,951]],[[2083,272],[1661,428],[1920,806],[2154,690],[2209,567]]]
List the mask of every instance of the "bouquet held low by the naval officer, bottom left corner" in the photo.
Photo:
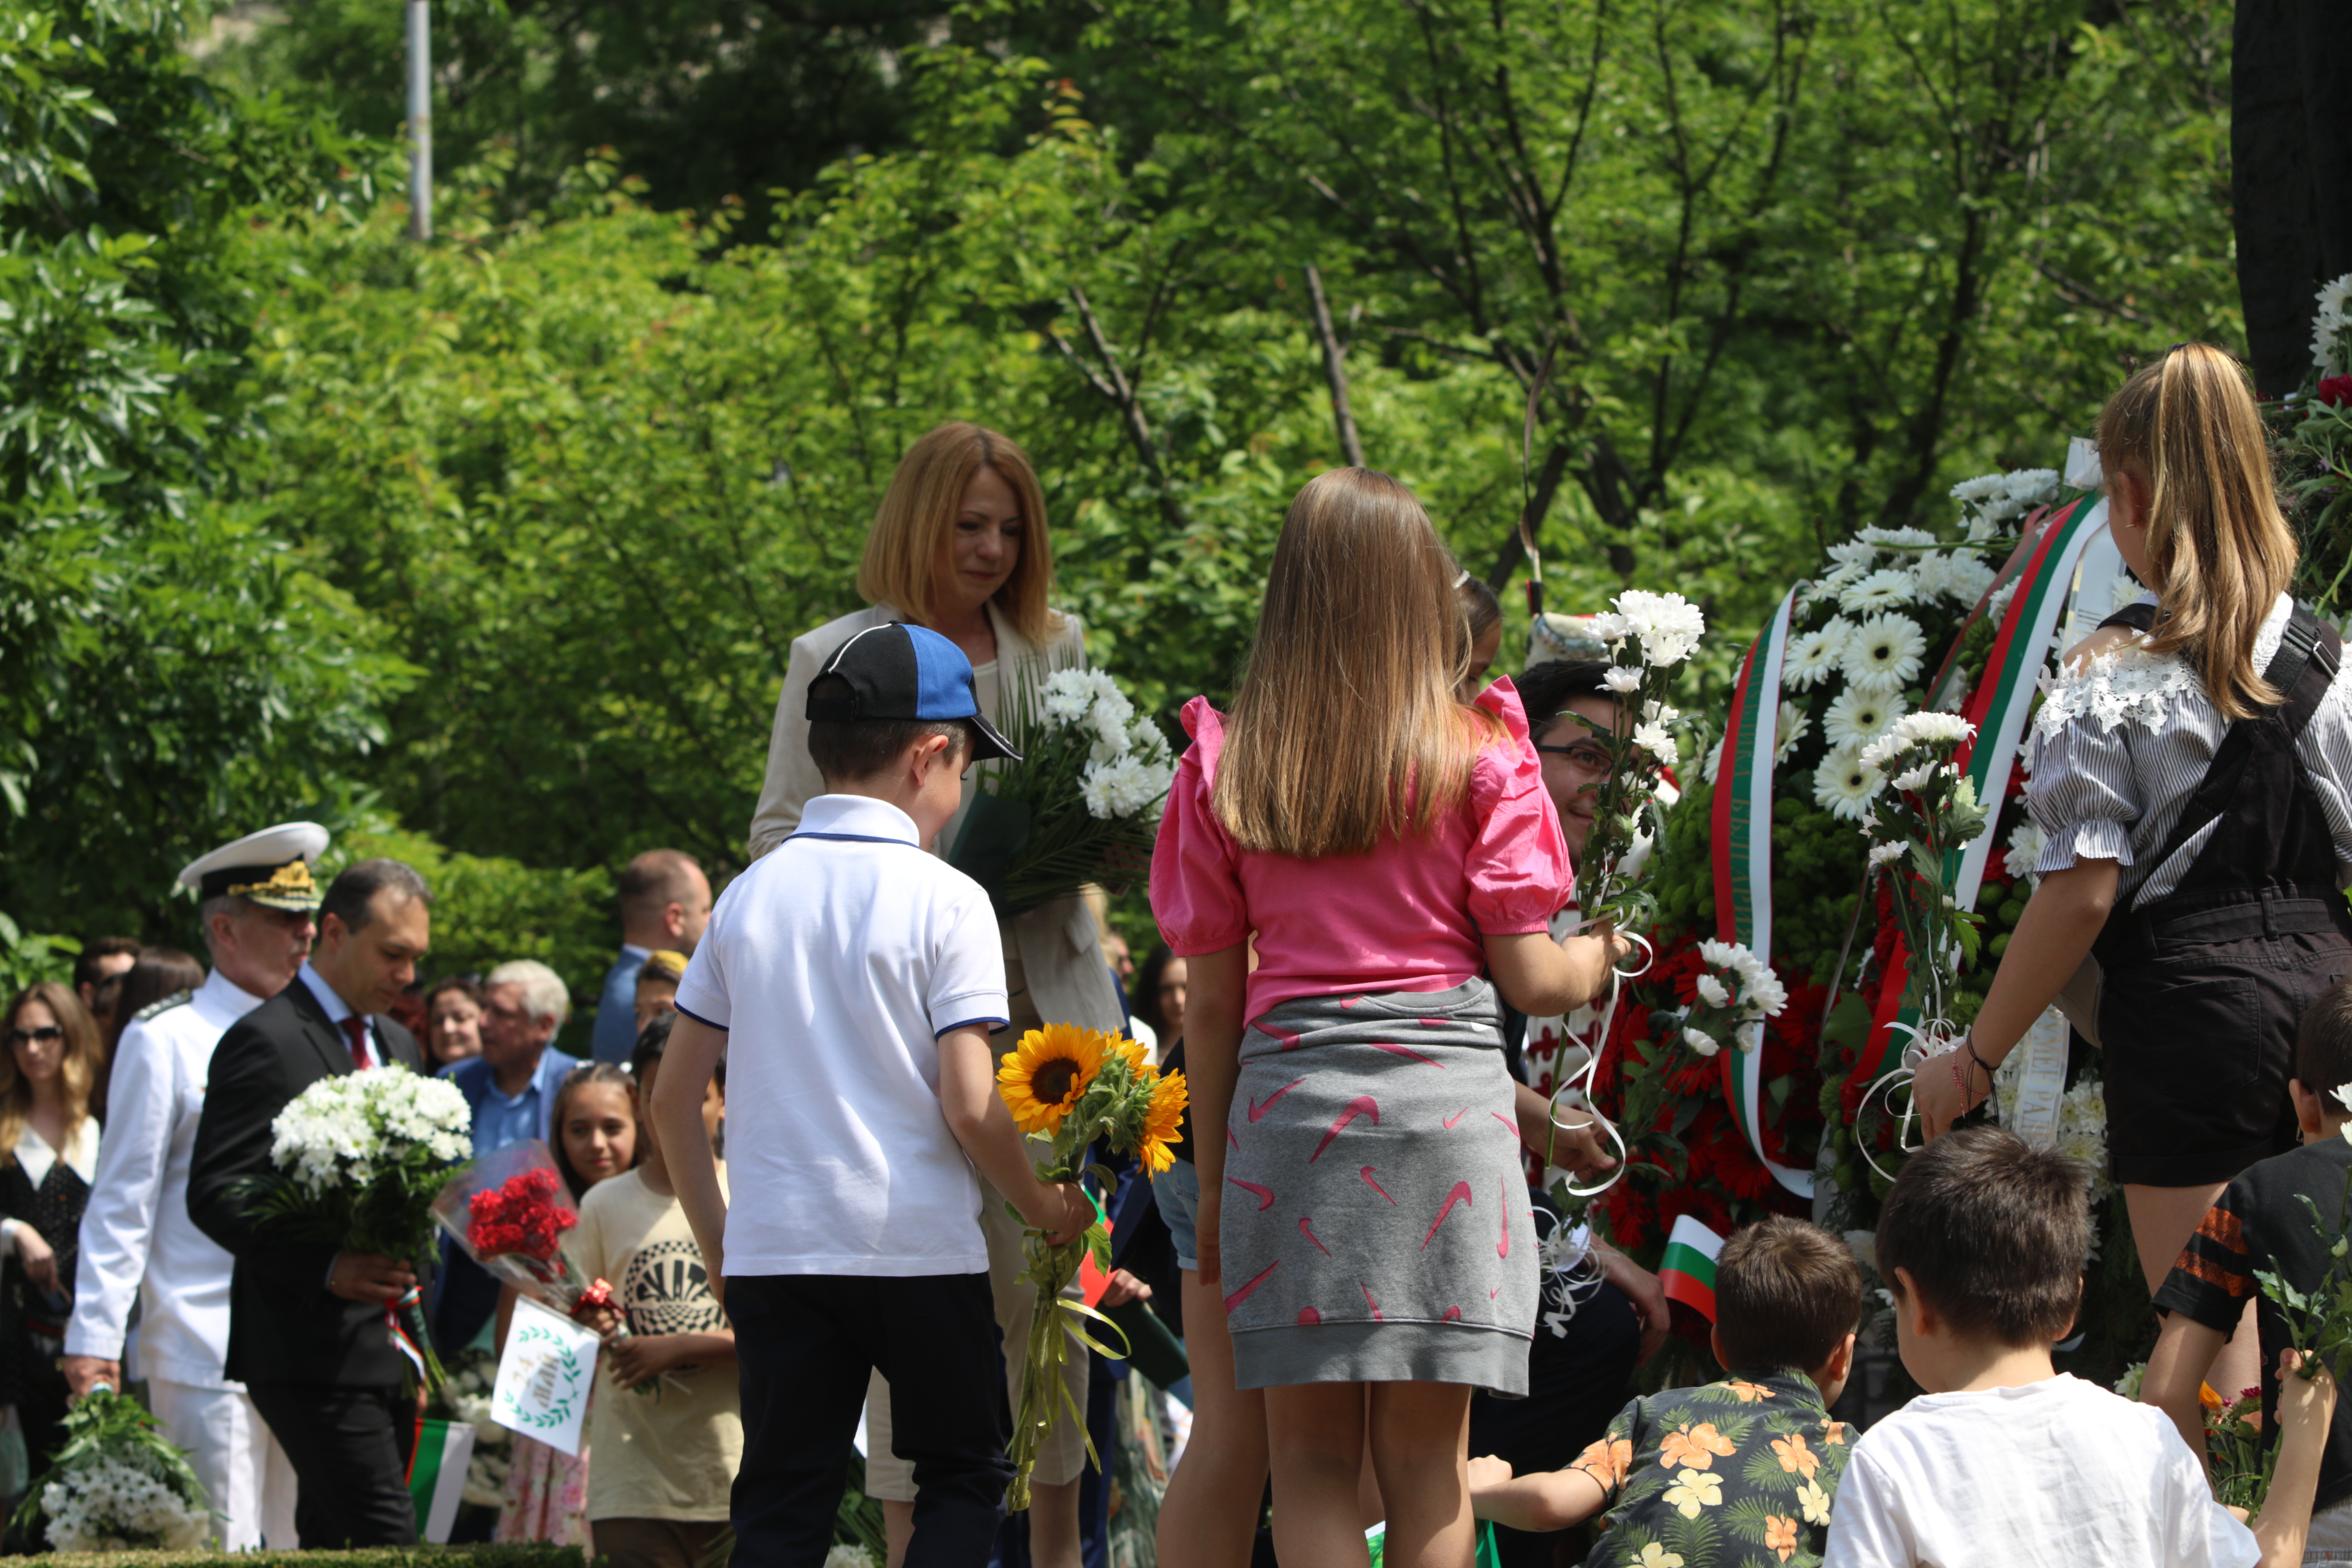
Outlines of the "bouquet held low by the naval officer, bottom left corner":
[[38,1519],[52,1552],[198,1552],[212,1509],[188,1455],[127,1394],[94,1389],[61,1422],[66,1443],[26,1493],[16,1528]]

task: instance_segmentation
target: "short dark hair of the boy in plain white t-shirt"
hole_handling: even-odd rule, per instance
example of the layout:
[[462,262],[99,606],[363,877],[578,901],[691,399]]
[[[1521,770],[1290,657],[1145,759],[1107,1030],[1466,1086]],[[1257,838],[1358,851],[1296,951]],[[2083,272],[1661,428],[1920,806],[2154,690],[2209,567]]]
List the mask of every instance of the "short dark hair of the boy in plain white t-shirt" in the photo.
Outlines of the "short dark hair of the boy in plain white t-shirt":
[[1955,1333],[2020,1349],[2063,1340],[2091,1255],[2089,1182],[1997,1126],[1945,1133],[1903,1161],[1879,1208],[1879,1274],[1903,1295],[1896,1269],[1910,1269]]

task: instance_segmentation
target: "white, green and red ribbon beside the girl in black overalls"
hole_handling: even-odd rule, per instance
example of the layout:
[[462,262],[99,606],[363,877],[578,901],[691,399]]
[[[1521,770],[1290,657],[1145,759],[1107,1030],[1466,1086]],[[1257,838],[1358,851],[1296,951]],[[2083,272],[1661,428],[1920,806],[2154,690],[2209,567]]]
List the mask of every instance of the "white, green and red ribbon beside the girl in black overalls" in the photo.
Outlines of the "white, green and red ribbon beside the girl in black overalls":
[[[2082,550],[2107,527],[2107,503],[2096,496],[2077,496],[2030,538],[2025,569],[2018,571],[2018,590],[2002,616],[2002,630],[1992,639],[1985,658],[1985,675],[1976,682],[1976,693],[1962,710],[1976,733],[1962,741],[1952,764],[1976,785],[1976,797],[1985,802],[1985,832],[1976,835],[1966,849],[1947,858],[1945,875],[1952,877],[1952,903],[1962,910],[1976,907],[1976,893],[1985,886],[1985,865],[1992,860],[1992,827],[2009,795],[2009,773],[2018,762],[2018,741],[2025,736],[2025,717],[2034,705],[2034,686],[2042,679],[2042,663],[2049,656],[2051,637],[2058,632],[2058,616],[2074,597],[2074,569]],[[1917,1009],[1903,1006],[1910,980],[1910,950],[1896,938],[1886,957],[1886,983],[1879,990],[1879,1011],[1870,1020],[1870,1039],[1856,1063],[1856,1077],[1875,1081],[1886,1060],[1889,1044],[1898,1032],[1910,1032],[1919,1023]]]

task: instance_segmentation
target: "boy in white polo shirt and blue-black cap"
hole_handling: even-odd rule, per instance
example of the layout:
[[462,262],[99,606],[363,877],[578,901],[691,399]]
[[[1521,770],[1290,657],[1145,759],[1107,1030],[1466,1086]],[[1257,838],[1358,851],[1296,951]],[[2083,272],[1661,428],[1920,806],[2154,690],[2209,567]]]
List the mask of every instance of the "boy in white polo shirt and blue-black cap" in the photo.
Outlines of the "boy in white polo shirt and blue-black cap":
[[[809,684],[826,795],[729,884],[677,985],[654,1086],[677,1197],[724,1291],[743,1378],[736,1561],[821,1568],[868,1371],[898,1401],[920,1497],[908,1568],[981,1568],[1011,1418],[978,1204],[985,1175],[1056,1239],[1094,1220],[1047,1187],[997,1098],[1004,957],[988,896],[924,853],[974,762],[1018,755],[938,632],[858,632]],[[727,1058],[727,1175],[701,1121]]]

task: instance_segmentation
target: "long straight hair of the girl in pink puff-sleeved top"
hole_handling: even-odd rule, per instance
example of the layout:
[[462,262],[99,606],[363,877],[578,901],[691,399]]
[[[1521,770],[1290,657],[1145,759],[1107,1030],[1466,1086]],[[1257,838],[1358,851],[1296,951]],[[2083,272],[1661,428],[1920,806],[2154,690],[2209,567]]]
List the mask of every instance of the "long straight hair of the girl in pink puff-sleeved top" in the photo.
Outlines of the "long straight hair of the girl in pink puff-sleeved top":
[[1428,832],[1496,733],[1454,698],[1470,658],[1454,559],[1385,473],[1291,501],[1209,804],[1242,849],[1350,856]]

